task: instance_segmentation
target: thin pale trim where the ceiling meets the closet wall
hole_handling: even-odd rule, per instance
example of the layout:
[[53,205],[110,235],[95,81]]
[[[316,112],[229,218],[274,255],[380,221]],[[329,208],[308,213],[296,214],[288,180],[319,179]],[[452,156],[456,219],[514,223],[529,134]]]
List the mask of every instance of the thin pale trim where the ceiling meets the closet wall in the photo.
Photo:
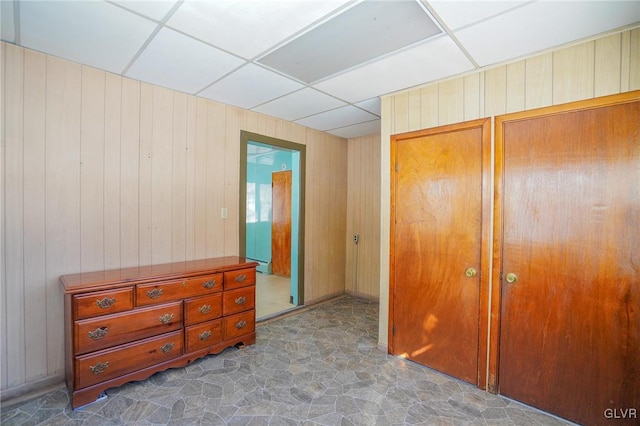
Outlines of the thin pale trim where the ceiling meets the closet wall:
[[495,64],[491,64],[491,65],[485,65],[483,67],[479,67],[479,68],[476,68],[476,69],[473,69],[473,70],[462,72],[460,74],[456,74],[456,75],[452,75],[452,76],[449,76],[449,77],[432,80],[432,81],[429,81],[427,83],[418,84],[418,85],[412,86],[412,87],[407,87],[407,88],[402,89],[402,90],[396,90],[394,92],[385,93],[385,94],[380,95],[380,99],[385,99],[385,98],[388,98],[388,97],[391,97],[391,96],[401,95],[403,93],[409,93],[409,92],[412,92],[412,91],[414,91],[416,89],[422,89],[422,88],[425,88],[425,87],[433,86],[435,84],[445,83],[447,81],[456,80],[458,78],[467,77],[469,75],[478,74],[480,72],[490,71],[492,69],[500,68],[500,67],[503,67],[505,65],[514,64],[516,62],[520,62],[520,61],[523,61],[523,60],[526,60],[526,59],[535,58],[537,56],[542,56],[542,55],[545,55],[547,53],[557,52],[559,50],[563,50],[563,49],[567,49],[567,48],[570,48],[570,47],[578,46],[578,45],[583,44],[583,43],[588,43],[590,41],[598,40],[598,39],[601,39],[601,38],[604,38],[604,37],[608,37],[608,36],[611,36],[611,35],[614,35],[614,34],[620,34],[620,33],[623,33],[625,31],[631,31],[631,30],[634,30],[634,29],[640,29],[640,21],[639,22],[634,22],[633,24],[625,25],[623,27],[619,27],[619,28],[616,28],[616,29],[613,29],[613,30],[605,31],[605,32],[602,32],[600,34],[595,34],[595,35],[592,35],[592,36],[589,36],[589,37],[581,38],[579,40],[574,40],[574,41],[572,41],[570,43],[561,44],[561,45],[558,45],[558,46],[555,46],[555,47],[550,47],[550,48],[539,50],[537,52],[533,52],[533,53],[530,53],[530,54],[527,54],[527,55],[519,56],[517,58],[512,58],[512,59],[509,59],[509,60],[506,60],[506,61],[502,61],[502,62],[498,62],[498,63],[495,63]]

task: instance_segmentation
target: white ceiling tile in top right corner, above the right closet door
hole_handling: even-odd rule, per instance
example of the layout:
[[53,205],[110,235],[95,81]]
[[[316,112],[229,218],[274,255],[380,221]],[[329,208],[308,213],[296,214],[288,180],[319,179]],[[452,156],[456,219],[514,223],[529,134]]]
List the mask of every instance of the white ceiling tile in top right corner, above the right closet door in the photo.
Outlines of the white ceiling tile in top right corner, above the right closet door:
[[638,1],[543,1],[467,27],[455,36],[480,66],[486,66],[639,20]]

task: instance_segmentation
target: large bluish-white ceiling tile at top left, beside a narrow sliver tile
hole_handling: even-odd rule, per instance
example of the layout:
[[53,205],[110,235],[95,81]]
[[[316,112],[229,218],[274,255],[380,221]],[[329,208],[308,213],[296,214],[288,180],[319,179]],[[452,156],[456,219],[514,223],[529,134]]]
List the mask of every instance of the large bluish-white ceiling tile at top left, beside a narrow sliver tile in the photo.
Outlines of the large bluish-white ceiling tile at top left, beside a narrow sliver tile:
[[21,45],[120,73],[156,24],[95,1],[20,2]]

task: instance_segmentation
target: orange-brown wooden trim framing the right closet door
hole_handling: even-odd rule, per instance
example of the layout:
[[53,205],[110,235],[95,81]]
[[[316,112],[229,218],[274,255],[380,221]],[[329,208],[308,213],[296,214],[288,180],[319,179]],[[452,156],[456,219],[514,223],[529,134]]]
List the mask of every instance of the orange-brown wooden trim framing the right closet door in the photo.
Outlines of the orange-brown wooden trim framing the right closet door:
[[499,393],[500,324],[502,313],[502,256],[504,235],[504,126],[507,123],[528,120],[568,112],[585,111],[615,104],[635,102],[640,99],[640,90],[569,102],[527,111],[503,114],[495,117],[495,162],[494,162],[494,204],[493,204],[493,265],[491,279],[495,286],[491,292],[491,333],[489,341],[487,390]]

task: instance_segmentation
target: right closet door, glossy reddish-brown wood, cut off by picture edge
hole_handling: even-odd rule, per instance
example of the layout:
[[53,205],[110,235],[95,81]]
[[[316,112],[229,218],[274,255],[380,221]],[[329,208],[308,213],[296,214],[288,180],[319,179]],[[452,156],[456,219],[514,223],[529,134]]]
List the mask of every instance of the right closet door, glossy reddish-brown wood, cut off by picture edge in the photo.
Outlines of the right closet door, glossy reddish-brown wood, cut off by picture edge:
[[500,393],[590,425],[633,409],[615,424],[638,424],[640,102],[505,121],[496,136]]

